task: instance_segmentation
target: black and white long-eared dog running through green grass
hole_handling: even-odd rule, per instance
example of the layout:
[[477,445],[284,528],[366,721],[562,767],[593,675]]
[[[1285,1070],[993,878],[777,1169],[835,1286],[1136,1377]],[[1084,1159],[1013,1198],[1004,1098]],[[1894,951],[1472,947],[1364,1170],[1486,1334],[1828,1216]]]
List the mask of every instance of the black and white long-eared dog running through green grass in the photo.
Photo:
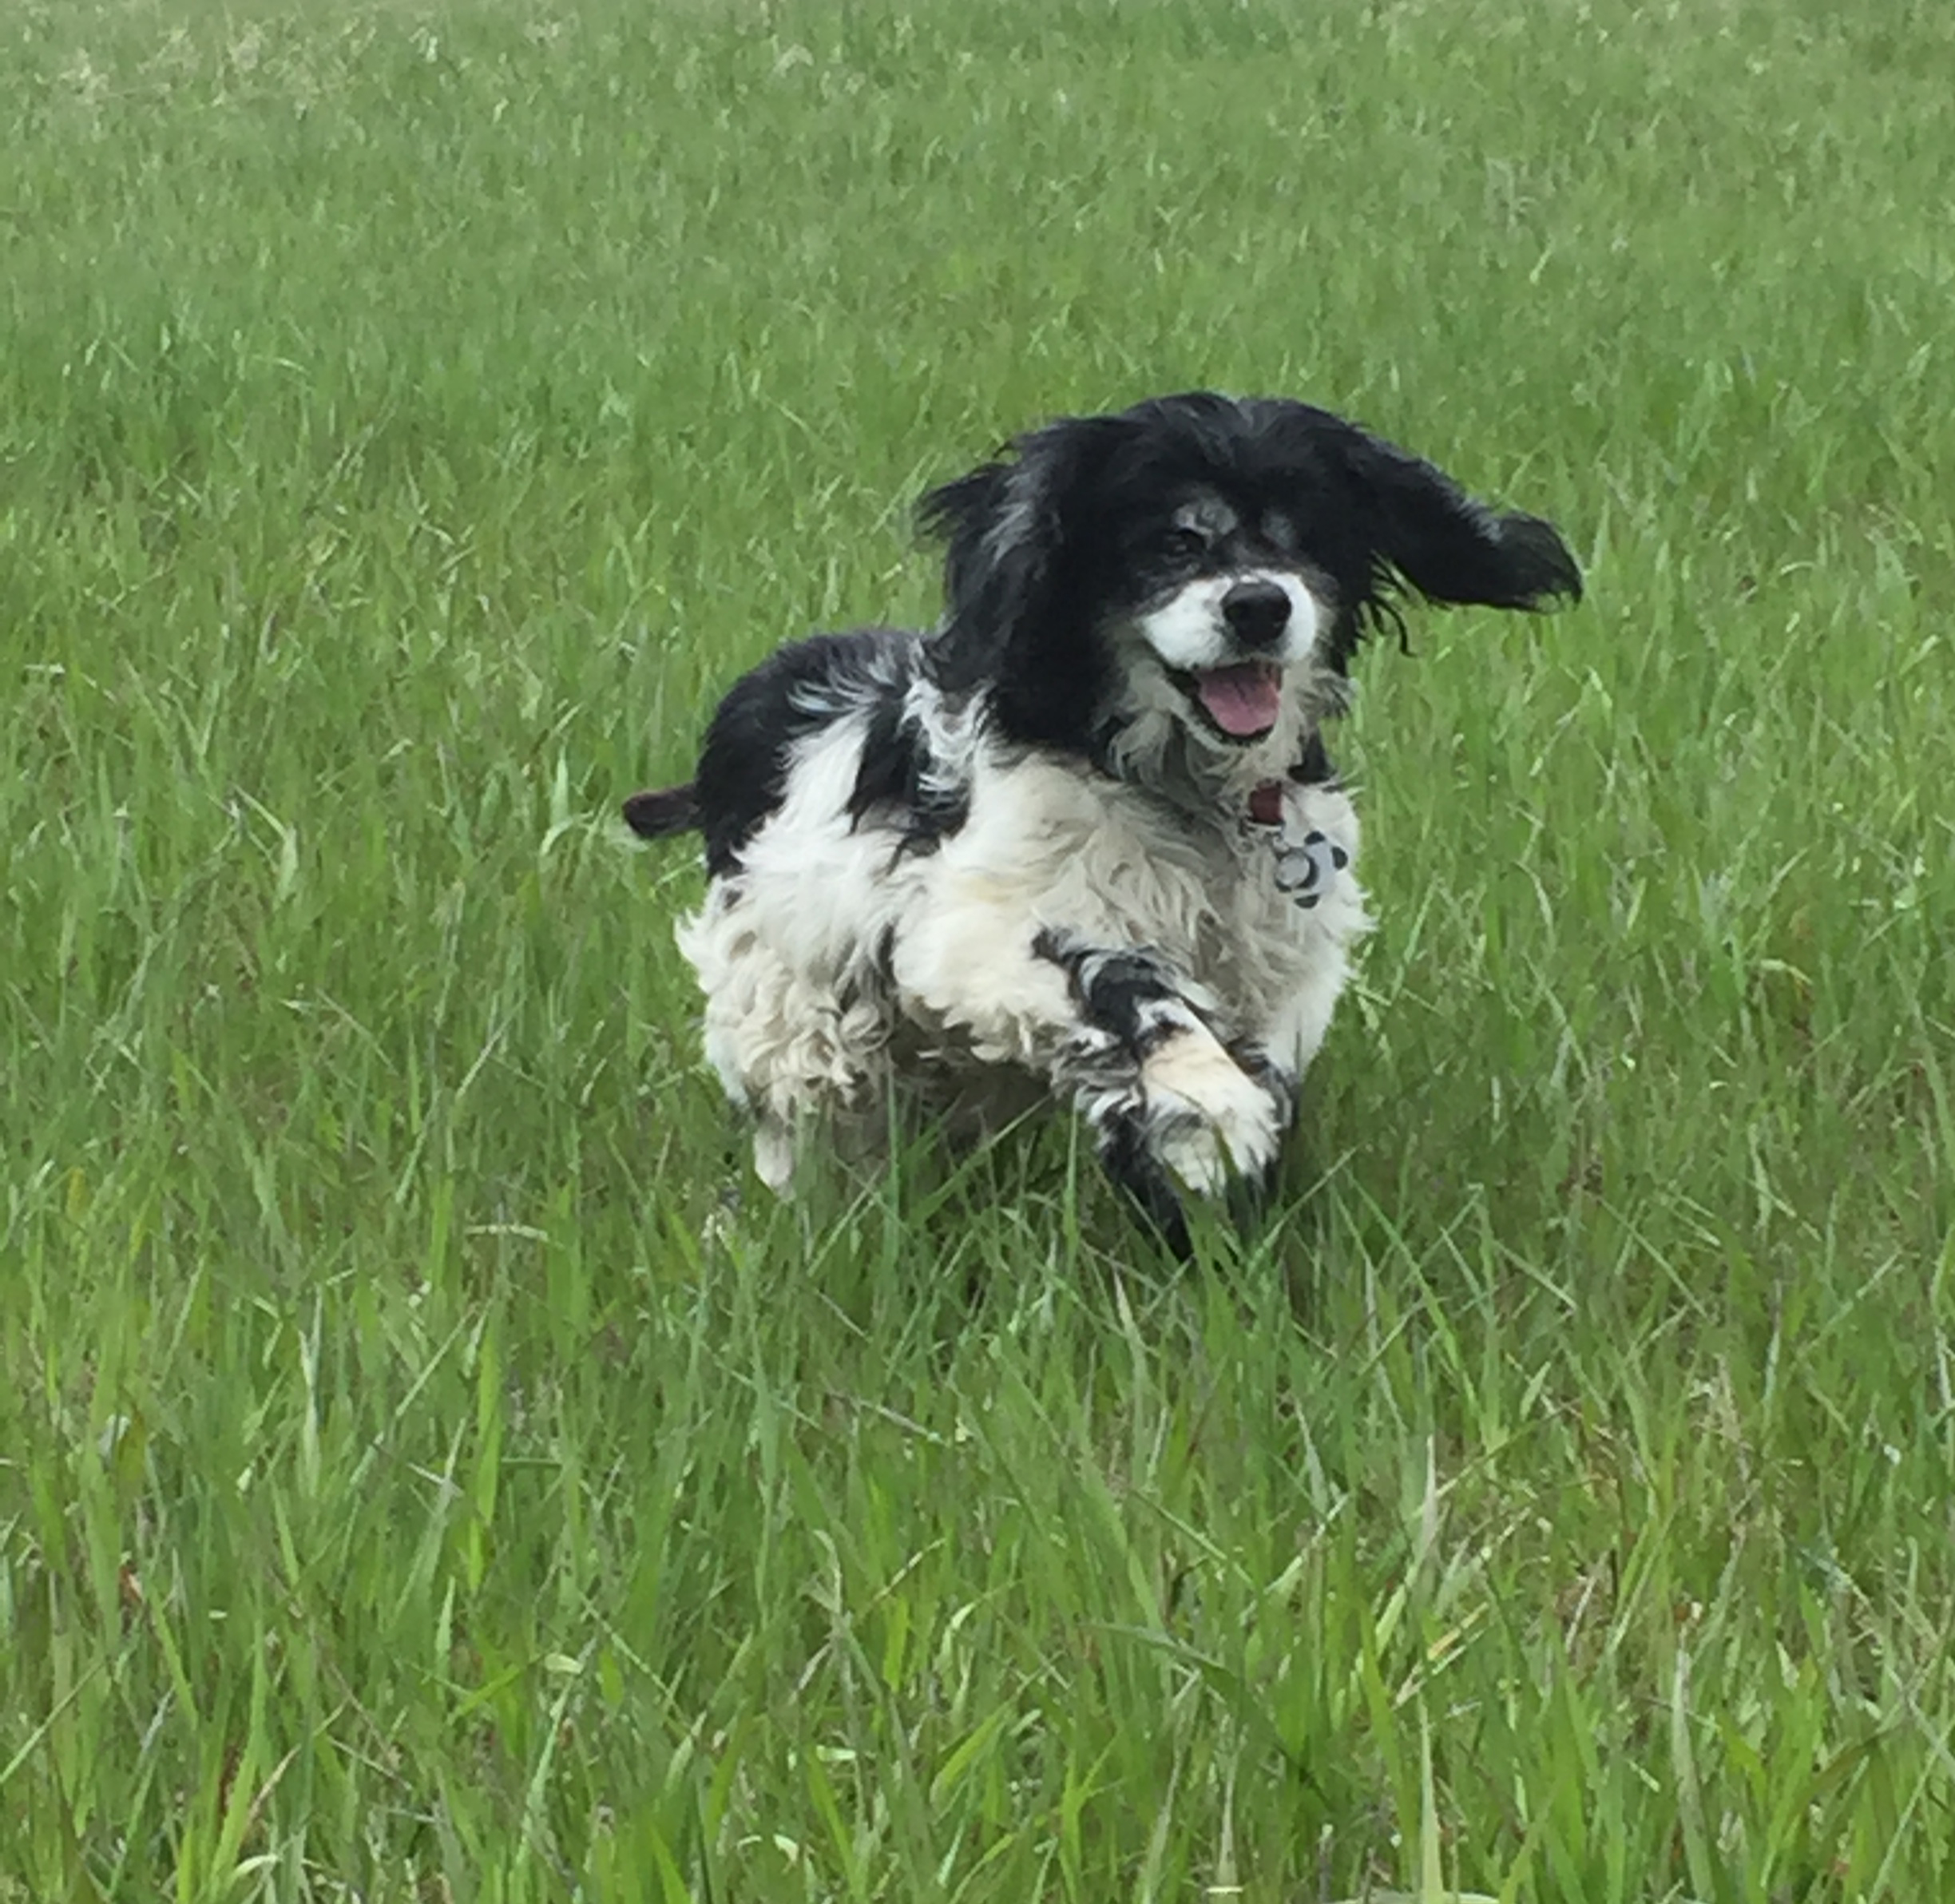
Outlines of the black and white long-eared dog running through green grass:
[[891,1093],[1056,1095],[1185,1247],[1181,1190],[1267,1183],[1368,927],[1322,739],[1361,637],[1400,584],[1535,608],[1580,571],[1327,411],[1210,393],[1021,436],[923,522],[933,633],[780,649],[626,803],[706,841],[706,1054],[776,1190]]

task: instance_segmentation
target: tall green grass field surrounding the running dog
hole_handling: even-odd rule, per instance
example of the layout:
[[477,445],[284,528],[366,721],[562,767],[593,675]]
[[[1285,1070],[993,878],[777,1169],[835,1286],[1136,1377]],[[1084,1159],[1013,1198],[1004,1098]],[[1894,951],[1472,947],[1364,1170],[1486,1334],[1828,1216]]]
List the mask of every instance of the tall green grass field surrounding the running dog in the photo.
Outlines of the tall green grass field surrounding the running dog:
[[[1955,1896],[1955,16],[16,0],[0,1900]],[[1294,1208],[743,1179],[612,813],[1189,383],[1562,522]]]

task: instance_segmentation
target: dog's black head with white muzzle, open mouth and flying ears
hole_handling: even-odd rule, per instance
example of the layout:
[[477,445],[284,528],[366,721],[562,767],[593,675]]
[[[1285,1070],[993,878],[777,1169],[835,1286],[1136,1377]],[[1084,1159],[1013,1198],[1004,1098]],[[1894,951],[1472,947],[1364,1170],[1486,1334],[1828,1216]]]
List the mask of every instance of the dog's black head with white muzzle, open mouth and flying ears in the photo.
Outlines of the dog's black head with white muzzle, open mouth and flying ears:
[[1550,524],[1277,399],[1064,418],[933,491],[923,522],[948,549],[938,682],[987,688],[1013,739],[1144,778],[1281,772],[1400,584],[1496,608],[1582,594]]

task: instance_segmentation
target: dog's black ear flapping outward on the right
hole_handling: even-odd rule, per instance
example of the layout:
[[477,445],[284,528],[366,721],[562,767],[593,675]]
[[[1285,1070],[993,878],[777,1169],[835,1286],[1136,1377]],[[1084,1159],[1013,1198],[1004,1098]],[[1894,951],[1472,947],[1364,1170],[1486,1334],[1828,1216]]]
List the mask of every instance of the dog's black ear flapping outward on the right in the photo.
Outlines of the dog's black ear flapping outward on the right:
[[1488,608],[1582,600],[1582,571],[1554,524],[1488,508],[1445,471],[1363,430],[1353,432],[1345,461],[1374,567],[1404,577],[1427,600]]

